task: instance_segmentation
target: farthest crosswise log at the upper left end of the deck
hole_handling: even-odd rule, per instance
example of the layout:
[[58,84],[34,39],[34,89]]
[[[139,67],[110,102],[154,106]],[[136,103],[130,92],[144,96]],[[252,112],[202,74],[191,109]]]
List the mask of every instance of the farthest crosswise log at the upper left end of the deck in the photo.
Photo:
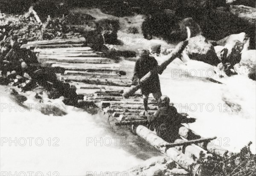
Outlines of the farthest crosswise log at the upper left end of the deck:
[[37,40],[30,41],[27,44],[22,45],[20,48],[27,48],[35,45],[51,45],[51,44],[80,44],[85,43],[85,38],[71,38],[71,39],[52,39],[52,40]]

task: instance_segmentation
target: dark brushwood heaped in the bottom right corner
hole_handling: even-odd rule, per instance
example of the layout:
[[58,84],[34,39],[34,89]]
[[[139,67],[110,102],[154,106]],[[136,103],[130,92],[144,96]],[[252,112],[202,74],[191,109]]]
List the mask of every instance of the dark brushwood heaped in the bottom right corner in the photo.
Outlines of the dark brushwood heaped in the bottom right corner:
[[255,176],[256,155],[250,151],[251,144],[244,146],[240,153],[199,159],[201,176]]

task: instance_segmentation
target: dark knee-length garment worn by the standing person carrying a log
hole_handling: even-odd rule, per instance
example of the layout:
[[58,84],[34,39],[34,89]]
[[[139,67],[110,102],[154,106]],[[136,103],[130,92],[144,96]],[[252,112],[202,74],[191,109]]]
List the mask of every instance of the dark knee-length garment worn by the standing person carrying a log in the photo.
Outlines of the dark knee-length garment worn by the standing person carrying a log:
[[[151,56],[142,56],[140,57],[134,67],[134,78],[133,79],[141,79],[145,76],[148,72],[154,69],[157,64],[157,60]],[[150,93],[160,92],[160,81],[158,74],[152,74],[151,77],[141,84],[141,91],[143,95],[148,95]]]

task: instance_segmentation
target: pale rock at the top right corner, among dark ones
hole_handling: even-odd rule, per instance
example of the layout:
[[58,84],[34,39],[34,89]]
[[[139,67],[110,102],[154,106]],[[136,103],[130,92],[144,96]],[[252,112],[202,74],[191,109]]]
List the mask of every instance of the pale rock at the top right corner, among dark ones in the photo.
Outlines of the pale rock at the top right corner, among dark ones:
[[[255,2],[254,2],[255,5]],[[251,24],[256,24],[256,8],[247,7],[247,6],[230,6],[230,12],[239,18],[242,18],[248,21]]]

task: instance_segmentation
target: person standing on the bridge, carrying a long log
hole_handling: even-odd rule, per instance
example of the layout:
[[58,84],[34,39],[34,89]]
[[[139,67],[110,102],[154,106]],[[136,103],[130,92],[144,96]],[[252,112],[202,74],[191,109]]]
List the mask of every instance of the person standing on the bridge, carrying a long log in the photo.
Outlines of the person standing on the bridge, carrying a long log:
[[145,108],[143,115],[148,115],[148,95],[152,93],[157,101],[162,95],[157,73],[152,73],[147,81],[144,81],[143,83],[140,82],[140,79],[156,66],[158,66],[157,60],[154,57],[149,56],[149,51],[147,49],[143,49],[140,53],[140,58],[136,61],[134,67],[134,78],[137,79],[137,83],[140,85],[141,93],[143,95],[143,104]]

